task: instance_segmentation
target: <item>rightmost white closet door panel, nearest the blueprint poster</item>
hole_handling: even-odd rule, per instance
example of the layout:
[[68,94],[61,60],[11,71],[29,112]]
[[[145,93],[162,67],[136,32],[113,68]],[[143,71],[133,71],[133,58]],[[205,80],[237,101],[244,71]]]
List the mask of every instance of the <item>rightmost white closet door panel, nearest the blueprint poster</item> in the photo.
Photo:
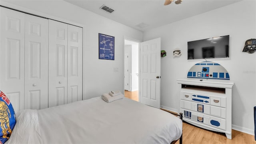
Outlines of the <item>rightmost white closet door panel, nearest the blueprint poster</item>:
[[82,28],[68,24],[68,103],[82,100]]

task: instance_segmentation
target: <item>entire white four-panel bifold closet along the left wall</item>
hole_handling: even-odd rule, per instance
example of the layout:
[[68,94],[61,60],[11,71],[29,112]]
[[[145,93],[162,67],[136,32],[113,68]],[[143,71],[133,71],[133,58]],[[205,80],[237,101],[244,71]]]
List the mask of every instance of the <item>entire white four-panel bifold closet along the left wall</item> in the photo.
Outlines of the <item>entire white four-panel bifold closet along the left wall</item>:
[[0,90],[14,110],[82,100],[82,28],[0,7]]

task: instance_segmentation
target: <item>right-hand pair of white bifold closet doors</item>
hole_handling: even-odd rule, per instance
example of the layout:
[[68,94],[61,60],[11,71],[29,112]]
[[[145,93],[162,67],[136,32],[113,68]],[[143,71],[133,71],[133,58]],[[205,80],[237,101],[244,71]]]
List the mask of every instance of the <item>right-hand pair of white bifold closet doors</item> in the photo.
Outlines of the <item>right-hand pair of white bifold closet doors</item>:
[[49,107],[82,100],[82,28],[49,20]]

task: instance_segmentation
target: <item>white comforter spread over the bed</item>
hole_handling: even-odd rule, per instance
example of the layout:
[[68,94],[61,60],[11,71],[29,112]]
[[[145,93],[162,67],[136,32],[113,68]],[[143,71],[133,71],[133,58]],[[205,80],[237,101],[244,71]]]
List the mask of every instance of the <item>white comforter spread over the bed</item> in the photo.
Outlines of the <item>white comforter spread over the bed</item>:
[[123,98],[100,97],[42,110],[22,110],[6,144],[156,143],[180,138],[182,121],[163,110]]

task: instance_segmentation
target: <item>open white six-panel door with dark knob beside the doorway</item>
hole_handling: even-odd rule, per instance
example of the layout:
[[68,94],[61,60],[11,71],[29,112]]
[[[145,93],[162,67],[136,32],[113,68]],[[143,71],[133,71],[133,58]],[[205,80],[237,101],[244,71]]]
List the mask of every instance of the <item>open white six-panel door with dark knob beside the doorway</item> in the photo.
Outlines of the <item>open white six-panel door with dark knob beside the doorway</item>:
[[140,102],[160,108],[161,38],[140,43]]

